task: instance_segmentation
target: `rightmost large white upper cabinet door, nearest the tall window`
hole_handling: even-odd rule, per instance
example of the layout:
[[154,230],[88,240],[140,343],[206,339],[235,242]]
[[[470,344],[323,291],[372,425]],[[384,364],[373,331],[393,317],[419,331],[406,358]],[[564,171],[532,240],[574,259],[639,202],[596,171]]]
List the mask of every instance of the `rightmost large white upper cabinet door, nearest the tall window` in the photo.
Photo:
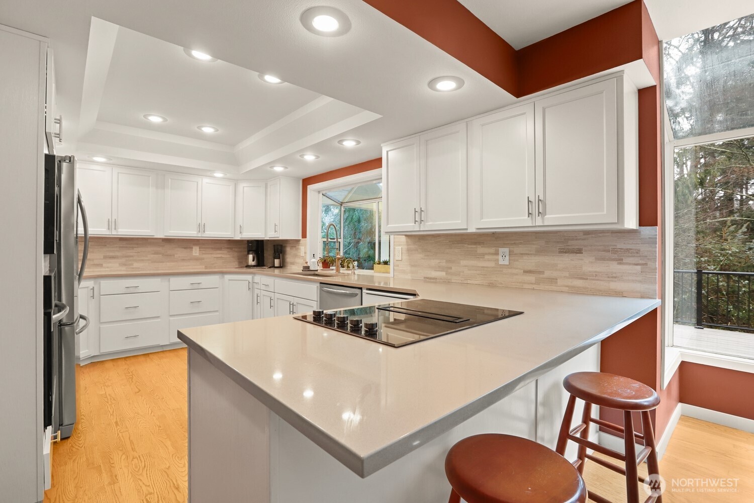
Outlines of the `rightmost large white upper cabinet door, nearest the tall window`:
[[535,109],[538,224],[618,222],[615,79],[544,98]]

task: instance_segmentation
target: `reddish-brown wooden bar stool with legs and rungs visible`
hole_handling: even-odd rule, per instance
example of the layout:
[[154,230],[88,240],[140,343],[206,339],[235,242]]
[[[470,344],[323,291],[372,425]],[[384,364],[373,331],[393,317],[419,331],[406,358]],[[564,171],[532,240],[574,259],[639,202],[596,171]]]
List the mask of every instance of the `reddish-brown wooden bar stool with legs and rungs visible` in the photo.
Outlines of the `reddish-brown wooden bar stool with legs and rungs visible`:
[[[626,494],[627,503],[639,503],[639,484],[645,483],[644,477],[639,477],[638,467],[646,460],[649,468],[649,474],[659,476],[660,467],[657,463],[657,446],[654,444],[654,431],[649,416],[649,411],[657,408],[660,403],[660,397],[648,385],[639,381],[634,381],[623,376],[601,372],[577,372],[563,379],[563,387],[571,394],[566,414],[563,417],[560,426],[560,434],[555,450],[560,455],[566,455],[566,445],[569,440],[578,443],[578,457],[572,463],[579,474],[584,473],[584,462],[590,459],[599,465],[617,471],[626,477]],[[573,410],[576,405],[576,399],[584,400],[584,413],[581,416],[581,423],[571,428],[573,419]],[[611,422],[602,421],[592,417],[592,406],[608,407],[623,411],[624,427],[614,425]],[[633,413],[641,414],[642,431],[639,434],[633,428]],[[589,428],[594,423],[602,428],[615,431],[624,436],[626,446],[625,455],[616,452],[607,447],[600,446],[597,443],[590,442]],[[644,448],[636,453],[636,440],[644,441]],[[611,458],[624,462],[625,468],[615,465],[611,462],[598,458],[595,455],[587,454],[587,449],[593,449],[596,452],[608,455]],[[654,482],[654,481],[651,481]],[[652,485],[654,489],[656,485]],[[600,495],[593,492],[589,493],[589,498],[597,503],[610,503]],[[662,497],[653,490],[645,503],[661,503]]]

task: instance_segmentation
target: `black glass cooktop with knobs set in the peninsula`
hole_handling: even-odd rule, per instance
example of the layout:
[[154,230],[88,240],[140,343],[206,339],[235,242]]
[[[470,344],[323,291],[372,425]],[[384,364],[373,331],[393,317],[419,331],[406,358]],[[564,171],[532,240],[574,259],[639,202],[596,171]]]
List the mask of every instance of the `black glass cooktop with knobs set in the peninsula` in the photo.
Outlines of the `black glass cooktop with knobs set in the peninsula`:
[[516,314],[523,312],[413,299],[365,308],[314,311],[296,319],[397,348]]

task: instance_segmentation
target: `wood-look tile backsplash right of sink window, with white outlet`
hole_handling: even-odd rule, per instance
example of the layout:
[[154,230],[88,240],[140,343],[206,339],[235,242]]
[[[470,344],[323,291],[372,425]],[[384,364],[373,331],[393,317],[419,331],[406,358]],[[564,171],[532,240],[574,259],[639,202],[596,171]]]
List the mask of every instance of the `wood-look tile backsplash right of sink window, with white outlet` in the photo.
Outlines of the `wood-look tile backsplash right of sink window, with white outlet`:
[[[657,228],[396,236],[396,278],[657,297]],[[498,265],[498,248],[510,265]]]

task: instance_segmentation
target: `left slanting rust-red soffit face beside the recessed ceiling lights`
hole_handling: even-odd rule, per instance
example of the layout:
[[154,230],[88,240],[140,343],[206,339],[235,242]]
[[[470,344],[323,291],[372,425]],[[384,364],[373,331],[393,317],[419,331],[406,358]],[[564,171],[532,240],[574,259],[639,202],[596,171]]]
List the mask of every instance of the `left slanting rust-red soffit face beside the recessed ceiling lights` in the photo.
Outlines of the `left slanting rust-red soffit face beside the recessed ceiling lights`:
[[363,1],[519,96],[516,50],[456,0]]

